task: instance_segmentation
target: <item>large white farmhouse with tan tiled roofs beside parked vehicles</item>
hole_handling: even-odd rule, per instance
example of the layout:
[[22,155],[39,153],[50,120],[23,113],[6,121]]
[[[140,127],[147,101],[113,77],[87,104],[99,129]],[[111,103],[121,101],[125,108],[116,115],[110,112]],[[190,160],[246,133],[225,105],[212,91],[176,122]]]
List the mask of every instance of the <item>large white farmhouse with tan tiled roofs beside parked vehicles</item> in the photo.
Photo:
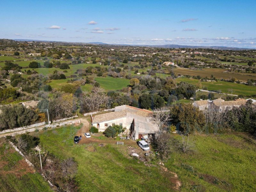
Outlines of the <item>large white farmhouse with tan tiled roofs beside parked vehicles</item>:
[[143,137],[148,138],[148,134],[158,131],[156,124],[151,121],[152,111],[121,105],[115,107],[115,111],[92,117],[92,126],[105,131],[108,126],[122,125],[126,128],[125,134],[132,139]]

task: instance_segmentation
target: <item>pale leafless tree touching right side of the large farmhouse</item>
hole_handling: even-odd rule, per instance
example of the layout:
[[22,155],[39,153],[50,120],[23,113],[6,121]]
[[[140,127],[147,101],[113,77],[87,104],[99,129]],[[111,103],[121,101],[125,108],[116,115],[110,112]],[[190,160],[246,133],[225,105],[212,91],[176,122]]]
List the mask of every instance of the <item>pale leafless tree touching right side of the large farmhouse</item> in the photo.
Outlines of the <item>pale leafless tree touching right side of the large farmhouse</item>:
[[168,131],[167,124],[172,120],[170,110],[165,108],[156,108],[152,114],[152,121],[159,130]]

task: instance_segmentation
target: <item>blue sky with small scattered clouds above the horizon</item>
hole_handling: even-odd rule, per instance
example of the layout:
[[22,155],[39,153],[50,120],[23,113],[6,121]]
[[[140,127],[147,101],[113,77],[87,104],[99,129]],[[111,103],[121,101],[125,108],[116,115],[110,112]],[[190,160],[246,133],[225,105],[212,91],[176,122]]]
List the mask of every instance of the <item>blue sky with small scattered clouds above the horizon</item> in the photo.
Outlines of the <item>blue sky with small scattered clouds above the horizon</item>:
[[5,1],[0,38],[256,48],[256,1]]

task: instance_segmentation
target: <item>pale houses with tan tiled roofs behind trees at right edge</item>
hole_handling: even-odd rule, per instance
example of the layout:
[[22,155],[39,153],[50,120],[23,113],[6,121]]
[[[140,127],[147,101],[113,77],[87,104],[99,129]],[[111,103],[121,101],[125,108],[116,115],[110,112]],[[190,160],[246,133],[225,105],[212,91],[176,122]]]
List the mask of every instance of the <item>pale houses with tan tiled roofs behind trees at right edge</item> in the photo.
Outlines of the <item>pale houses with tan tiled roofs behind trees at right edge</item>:
[[[249,100],[249,99],[247,99]],[[245,99],[236,99],[233,101],[225,101],[223,99],[215,99],[215,100],[199,100],[195,101],[193,105],[198,107],[199,110],[205,110],[206,108],[219,108],[220,111],[224,111],[225,109],[231,110],[234,107],[240,107],[241,105],[245,105],[247,100]],[[256,105],[256,100],[252,100],[252,103]]]

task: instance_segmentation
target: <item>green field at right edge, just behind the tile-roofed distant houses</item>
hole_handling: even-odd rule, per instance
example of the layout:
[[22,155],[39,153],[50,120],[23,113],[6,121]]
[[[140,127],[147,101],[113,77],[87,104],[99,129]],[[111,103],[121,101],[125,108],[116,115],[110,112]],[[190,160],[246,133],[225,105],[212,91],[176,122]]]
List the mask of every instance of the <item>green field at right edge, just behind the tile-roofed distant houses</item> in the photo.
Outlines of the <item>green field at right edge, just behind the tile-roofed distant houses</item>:
[[[200,80],[198,79],[190,79],[186,77],[179,77],[175,79],[177,83],[184,81],[190,84],[196,85]],[[255,86],[248,86],[245,84],[237,84],[232,82],[226,81],[218,81],[218,82],[201,82],[203,87],[207,87],[207,90],[215,90],[220,91],[223,93],[231,93],[230,89],[233,89],[233,94],[236,95],[255,95],[256,94],[256,87]]]

